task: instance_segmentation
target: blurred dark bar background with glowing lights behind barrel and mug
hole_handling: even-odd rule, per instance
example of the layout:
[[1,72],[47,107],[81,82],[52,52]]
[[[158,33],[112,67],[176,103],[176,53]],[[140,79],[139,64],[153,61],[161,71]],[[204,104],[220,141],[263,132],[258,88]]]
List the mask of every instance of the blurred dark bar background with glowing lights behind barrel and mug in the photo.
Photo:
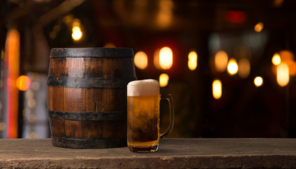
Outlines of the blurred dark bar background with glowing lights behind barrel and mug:
[[[0,2],[0,138],[50,137],[51,48],[128,47],[173,94],[168,137],[296,137],[294,0]],[[161,128],[168,124],[161,102]]]

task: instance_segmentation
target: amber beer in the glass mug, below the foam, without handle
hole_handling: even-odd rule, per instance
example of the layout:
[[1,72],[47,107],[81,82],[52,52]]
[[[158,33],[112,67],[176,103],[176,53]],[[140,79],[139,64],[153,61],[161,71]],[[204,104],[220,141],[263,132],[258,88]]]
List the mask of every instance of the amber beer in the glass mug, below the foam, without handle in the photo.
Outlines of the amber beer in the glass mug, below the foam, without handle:
[[157,151],[159,101],[156,96],[128,96],[128,147],[130,151]]

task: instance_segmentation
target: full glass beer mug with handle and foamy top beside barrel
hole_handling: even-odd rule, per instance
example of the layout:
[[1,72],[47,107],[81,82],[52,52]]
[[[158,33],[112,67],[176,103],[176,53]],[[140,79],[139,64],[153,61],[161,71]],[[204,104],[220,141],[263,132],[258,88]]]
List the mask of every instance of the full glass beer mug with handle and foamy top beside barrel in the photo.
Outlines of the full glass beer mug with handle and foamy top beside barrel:
[[[170,107],[170,125],[159,134],[160,99]],[[173,129],[173,97],[161,96],[156,80],[135,80],[128,83],[128,149],[132,152],[154,152],[159,149],[159,138]]]

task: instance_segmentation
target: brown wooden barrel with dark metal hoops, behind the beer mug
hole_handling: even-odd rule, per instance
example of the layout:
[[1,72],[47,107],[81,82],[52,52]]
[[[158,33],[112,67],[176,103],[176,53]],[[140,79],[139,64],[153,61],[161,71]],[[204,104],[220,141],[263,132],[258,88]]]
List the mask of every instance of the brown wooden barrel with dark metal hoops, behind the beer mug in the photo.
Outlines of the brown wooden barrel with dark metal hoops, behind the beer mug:
[[47,108],[54,146],[126,146],[126,86],[136,80],[125,48],[51,49]]

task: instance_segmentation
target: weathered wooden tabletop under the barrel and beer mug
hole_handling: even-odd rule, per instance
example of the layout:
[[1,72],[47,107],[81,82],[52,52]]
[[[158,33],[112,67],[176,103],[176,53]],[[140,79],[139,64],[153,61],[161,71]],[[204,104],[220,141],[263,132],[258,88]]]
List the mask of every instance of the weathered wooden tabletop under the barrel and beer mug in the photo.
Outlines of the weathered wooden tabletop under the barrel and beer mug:
[[162,139],[144,154],[0,139],[0,168],[296,168],[296,139]]

